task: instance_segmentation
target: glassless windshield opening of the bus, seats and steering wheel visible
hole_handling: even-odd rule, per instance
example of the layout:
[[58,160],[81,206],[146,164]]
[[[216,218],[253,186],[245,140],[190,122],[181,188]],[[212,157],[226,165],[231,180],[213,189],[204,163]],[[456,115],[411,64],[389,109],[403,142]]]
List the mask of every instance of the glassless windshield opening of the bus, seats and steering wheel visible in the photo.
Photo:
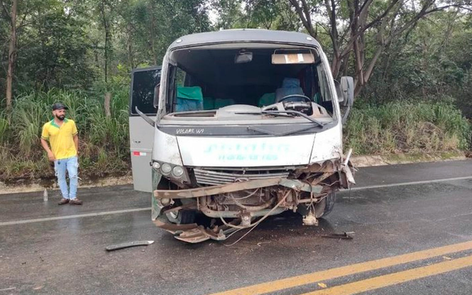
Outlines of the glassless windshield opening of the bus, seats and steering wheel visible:
[[[314,48],[251,46],[213,45],[172,51],[167,113],[215,117],[221,109],[227,115],[231,110],[247,114],[259,108],[261,114],[270,115],[274,112],[265,110],[283,111],[291,103],[290,110],[332,120],[335,109],[329,80]],[[241,111],[241,105],[247,111]]]

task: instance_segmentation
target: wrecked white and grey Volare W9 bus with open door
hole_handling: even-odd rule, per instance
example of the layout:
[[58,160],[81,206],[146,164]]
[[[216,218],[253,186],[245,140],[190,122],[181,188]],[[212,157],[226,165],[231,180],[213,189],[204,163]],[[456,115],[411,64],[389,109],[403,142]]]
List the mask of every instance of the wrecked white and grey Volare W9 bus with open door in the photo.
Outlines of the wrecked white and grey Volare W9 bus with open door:
[[184,36],[162,68],[133,72],[135,189],[152,191],[158,227],[191,243],[287,210],[317,225],[354,183],[342,145],[352,101],[352,78],[334,81],[306,34]]

